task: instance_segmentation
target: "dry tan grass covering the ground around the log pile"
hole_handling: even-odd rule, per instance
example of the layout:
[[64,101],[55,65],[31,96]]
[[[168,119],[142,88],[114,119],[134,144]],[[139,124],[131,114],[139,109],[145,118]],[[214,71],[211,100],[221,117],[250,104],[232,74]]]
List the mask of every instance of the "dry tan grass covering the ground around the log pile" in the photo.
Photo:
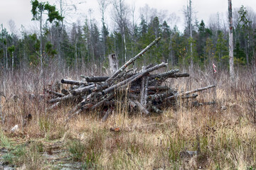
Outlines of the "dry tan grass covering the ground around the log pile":
[[[36,79],[36,75],[33,74],[31,79]],[[248,84],[240,83],[247,82],[250,77],[243,75],[238,74],[237,86],[230,89],[227,72],[219,73],[215,106],[185,108],[181,104],[177,109],[166,108],[161,115],[143,117],[140,113],[129,115],[127,107],[120,104],[105,122],[100,120],[100,112],[95,111],[78,115],[67,126],[64,121],[70,106],[46,112],[44,101],[28,102],[26,96],[36,91],[37,84],[33,83],[23,86],[26,90],[18,91],[21,97],[15,103],[11,95],[17,87],[22,89],[23,81],[13,85],[11,79],[5,79],[0,90],[6,94],[8,104],[3,98],[1,106],[6,121],[1,124],[0,145],[23,146],[36,140],[43,144],[43,152],[49,152],[47,148],[59,142],[58,149],[65,151],[70,162],[82,162],[81,169],[255,169],[255,124],[247,116],[245,89]],[[52,82],[52,79],[48,77],[46,82]],[[213,82],[210,74],[201,71],[191,80],[192,88]],[[188,86],[179,85],[188,82],[176,79],[169,84],[186,89]],[[38,88],[38,94],[40,92]],[[199,99],[212,101],[213,91],[202,92]],[[220,109],[221,106],[226,109]],[[22,128],[23,118],[28,113],[33,118]],[[16,124],[20,127],[18,132],[11,133],[10,129]],[[119,129],[110,130],[115,128]],[[14,143],[10,144],[8,139]],[[54,169],[46,165],[48,162],[41,157],[41,152],[31,154],[35,147],[26,145],[24,148],[23,155],[33,161],[28,164],[13,147],[9,150],[16,157],[14,164],[26,169]],[[182,157],[180,152],[187,150],[200,150],[200,154]]]

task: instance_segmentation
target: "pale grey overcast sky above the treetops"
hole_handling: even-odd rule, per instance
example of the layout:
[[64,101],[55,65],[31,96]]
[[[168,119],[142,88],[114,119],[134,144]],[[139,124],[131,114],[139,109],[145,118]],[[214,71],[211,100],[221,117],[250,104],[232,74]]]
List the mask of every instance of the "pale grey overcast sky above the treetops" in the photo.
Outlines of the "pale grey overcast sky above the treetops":
[[[0,24],[4,24],[4,28],[9,30],[9,21],[13,20],[16,23],[16,28],[21,28],[21,25],[25,26],[27,30],[33,29],[37,23],[31,21],[31,0],[0,0]],[[39,0],[40,1],[40,0]],[[58,7],[58,0],[48,0],[50,4],[55,4]],[[81,22],[85,16],[88,15],[89,8],[92,8],[92,18],[100,23],[100,12],[97,4],[97,0],[63,0],[69,5],[75,4],[77,11],[69,11],[67,17],[68,23],[77,22],[78,18]],[[127,4],[132,4],[133,0],[126,0]],[[187,0],[134,0],[136,11],[139,13],[139,8],[149,5],[151,8],[156,8],[158,11],[166,10],[170,15],[171,13],[176,13],[176,16],[180,18],[180,21],[176,23],[178,27],[184,24],[183,21],[183,7],[186,6]],[[240,8],[241,5],[250,6],[255,11],[256,1],[255,0],[233,0],[233,8]],[[228,11],[228,1],[227,0],[192,0],[193,12],[196,12],[196,18],[198,21],[205,21],[206,25],[211,15],[219,12],[223,16],[226,16]],[[74,6],[70,6],[74,8]],[[112,6],[110,5],[110,8]],[[106,16],[107,23],[110,25],[111,19]],[[139,18],[137,14],[136,18]],[[66,23],[66,24],[68,24]]]

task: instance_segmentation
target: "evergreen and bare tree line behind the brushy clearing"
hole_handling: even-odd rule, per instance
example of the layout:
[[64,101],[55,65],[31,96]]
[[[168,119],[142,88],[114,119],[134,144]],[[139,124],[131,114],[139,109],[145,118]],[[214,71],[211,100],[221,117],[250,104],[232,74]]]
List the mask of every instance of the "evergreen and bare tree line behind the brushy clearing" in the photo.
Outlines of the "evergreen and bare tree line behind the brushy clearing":
[[[61,1],[60,1],[61,2]],[[190,1],[191,2],[191,1]],[[14,70],[22,67],[47,67],[51,63],[59,67],[79,69],[82,64],[100,67],[107,66],[107,55],[115,53],[119,62],[124,63],[134,57],[155,38],[161,42],[135,64],[169,62],[171,66],[186,67],[208,64],[228,68],[228,21],[219,13],[211,16],[208,26],[193,18],[191,3],[184,9],[186,23],[184,29],[170,26],[160,12],[145,6],[139,22],[134,21],[134,6],[124,0],[98,0],[102,20],[91,17],[73,23],[68,28],[63,23],[65,16],[54,5],[31,1],[33,20],[40,22],[40,30],[31,33],[21,28],[20,33],[1,27],[0,67]],[[106,15],[106,8],[112,13]],[[42,15],[46,15],[46,21]],[[110,28],[105,18],[110,17],[114,25]],[[10,26],[14,23],[10,22]],[[235,65],[249,66],[255,63],[256,13],[251,8],[233,10],[233,44]]]

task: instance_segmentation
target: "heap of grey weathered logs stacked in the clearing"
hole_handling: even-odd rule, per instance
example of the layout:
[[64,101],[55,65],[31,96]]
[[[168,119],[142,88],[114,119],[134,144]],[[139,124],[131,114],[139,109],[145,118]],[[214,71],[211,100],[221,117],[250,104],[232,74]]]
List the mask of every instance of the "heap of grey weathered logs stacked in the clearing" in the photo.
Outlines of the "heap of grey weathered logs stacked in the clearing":
[[[144,115],[161,113],[162,108],[175,106],[179,99],[196,98],[198,91],[213,88],[206,86],[192,91],[178,92],[163,82],[169,78],[189,77],[187,73],[179,73],[178,69],[168,72],[151,74],[157,69],[166,67],[167,63],[149,64],[141,70],[128,69],[127,67],[141,57],[146,50],[159,42],[156,38],[142,52],[117,69],[110,77],[86,77],[81,75],[83,81],[62,79],[62,84],[70,84],[69,89],[62,89],[61,93],[53,90],[46,92],[52,96],[48,109],[61,106],[62,103],[74,103],[70,117],[86,111],[102,111],[103,120],[112,113],[112,110],[121,101],[129,111],[139,111]],[[198,105],[198,103],[196,103]]]

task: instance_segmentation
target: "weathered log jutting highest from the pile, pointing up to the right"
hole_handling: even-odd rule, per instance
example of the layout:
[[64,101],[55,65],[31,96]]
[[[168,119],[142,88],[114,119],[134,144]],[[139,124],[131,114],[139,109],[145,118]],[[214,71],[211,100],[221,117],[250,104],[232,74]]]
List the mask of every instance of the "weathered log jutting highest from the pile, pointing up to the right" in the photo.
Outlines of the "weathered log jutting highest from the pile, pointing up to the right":
[[117,72],[114,72],[114,74],[112,74],[112,76],[110,78],[108,78],[106,81],[110,81],[112,79],[114,79],[114,77],[117,77],[117,75],[120,72],[123,72],[124,69],[126,69],[129,64],[132,64],[135,60],[137,60],[139,57],[141,57],[147,50],[149,50],[150,47],[152,47],[153,45],[155,45],[157,42],[159,42],[159,40],[161,39],[161,37],[156,38],[156,40],[154,40],[153,42],[151,42],[146,48],[144,48],[144,50],[142,50],[141,52],[139,52],[138,55],[136,55],[135,57],[133,57],[132,59],[130,59],[128,62],[126,62],[124,65],[122,65],[122,67],[120,67]]

